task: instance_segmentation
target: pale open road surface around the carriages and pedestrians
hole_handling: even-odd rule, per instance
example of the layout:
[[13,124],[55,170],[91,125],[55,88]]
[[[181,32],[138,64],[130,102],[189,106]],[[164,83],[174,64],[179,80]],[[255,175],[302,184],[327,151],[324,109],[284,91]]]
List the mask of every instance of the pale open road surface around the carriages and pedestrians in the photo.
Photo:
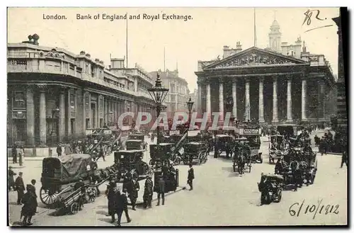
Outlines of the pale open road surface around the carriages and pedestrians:
[[[317,132],[317,135],[321,135]],[[312,137],[314,133],[312,134]],[[304,186],[298,191],[283,191],[280,203],[260,205],[261,193],[257,182],[261,173],[273,173],[274,165],[268,164],[268,142],[262,139],[263,164],[253,164],[251,173],[243,176],[232,171],[231,159],[214,159],[212,154],[206,164],[195,165],[193,191],[188,189],[169,193],[165,205],[143,210],[130,210],[132,222],[124,226],[226,226],[226,225],[346,225],[347,224],[347,169],[340,169],[341,157],[318,154],[318,172],[314,185]],[[313,141],[312,141],[313,142]],[[146,156],[146,161],[149,159]],[[108,165],[113,157],[107,158]],[[33,162],[35,163],[35,162]],[[99,166],[104,166],[100,162]],[[30,170],[30,175],[40,180],[40,162]],[[180,170],[180,185],[186,186],[188,166],[177,166]],[[31,178],[24,175],[25,182]],[[144,181],[140,183],[144,188]],[[40,183],[36,186],[40,188]],[[101,191],[104,191],[104,186]],[[139,193],[141,198],[142,192]],[[156,196],[154,197],[156,198]],[[10,220],[19,220],[21,205],[14,205],[16,193],[9,195]],[[319,204],[320,203],[320,204]],[[319,210],[314,209],[319,204]],[[316,205],[312,207],[312,205]],[[321,206],[324,206],[321,210]],[[327,207],[329,205],[329,207]],[[333,205],[333,208],[331,208]],[[292,208],[290,208],[292,206]],[[301,210],[299,210],[302,206]],[[309,206],[309,208],[307,208]],[[106,217],[107,199],[101,195],[94,203],[86,204],[76,215],[56,216],[40,204],[35,215],[36,226],[114,226]],[[320,211],[321,210],[321,211]],[[327,214],[326,214],[327,210]],[[312,212],[313,211],[313,212]],[[305,213],[307,212],[307,213]],[[316,215],[314,213],[316,212]],[[295,216],[292,216],[295,215]]]

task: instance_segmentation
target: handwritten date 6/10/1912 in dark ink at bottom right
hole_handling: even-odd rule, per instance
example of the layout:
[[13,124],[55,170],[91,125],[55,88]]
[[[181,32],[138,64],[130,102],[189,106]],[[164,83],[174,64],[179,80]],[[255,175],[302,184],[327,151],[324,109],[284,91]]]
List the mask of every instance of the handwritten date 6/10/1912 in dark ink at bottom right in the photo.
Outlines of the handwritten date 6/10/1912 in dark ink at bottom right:
[[302,203],[293,203],[290,205],[289,214],[292,217],[299,217],[300,214],[304,215],[312,215],[312,219],[314,220],[316,215],[329,215],[339,214],[339,205],[323,205],[322,200],[319,200],[317,205],[304,205],[305,200],[302,200]]

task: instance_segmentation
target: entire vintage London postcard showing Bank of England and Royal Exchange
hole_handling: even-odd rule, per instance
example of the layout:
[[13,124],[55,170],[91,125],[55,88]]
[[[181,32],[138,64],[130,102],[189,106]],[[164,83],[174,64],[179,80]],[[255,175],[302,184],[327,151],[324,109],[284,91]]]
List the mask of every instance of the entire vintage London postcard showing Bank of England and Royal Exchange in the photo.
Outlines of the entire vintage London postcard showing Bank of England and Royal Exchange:
[[348,225],[346,8],[7,17],[9,226]]

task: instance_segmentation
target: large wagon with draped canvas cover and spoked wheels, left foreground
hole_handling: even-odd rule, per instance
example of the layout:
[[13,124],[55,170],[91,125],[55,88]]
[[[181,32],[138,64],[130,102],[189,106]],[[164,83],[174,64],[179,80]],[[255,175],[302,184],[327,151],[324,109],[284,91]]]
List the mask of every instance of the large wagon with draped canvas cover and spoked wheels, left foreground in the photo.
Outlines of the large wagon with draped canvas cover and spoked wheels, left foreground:
[[89,154],[70,154],[60,158],[45,158],[42,161],[40,200],[45,205],[53,205],[59,195],[72,191],[71,185],[82,179],[90,183],[87,166],[91,162]]

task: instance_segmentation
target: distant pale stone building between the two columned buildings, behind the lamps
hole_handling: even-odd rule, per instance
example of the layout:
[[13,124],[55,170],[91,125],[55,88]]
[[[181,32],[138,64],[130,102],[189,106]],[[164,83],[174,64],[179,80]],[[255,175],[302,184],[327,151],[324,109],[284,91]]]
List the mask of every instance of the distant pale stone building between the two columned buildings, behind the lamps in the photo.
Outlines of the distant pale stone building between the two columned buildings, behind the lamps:
[[[187,101],[189,99],[188,83],[185,79],[178,76],[178,70],[165,72],[158,71],[162,85],[169,89],[165,98],[164,105],[168,118],[173,118],[175,112],[188,112]],[[156,79],[157,72],[150,72]]]

